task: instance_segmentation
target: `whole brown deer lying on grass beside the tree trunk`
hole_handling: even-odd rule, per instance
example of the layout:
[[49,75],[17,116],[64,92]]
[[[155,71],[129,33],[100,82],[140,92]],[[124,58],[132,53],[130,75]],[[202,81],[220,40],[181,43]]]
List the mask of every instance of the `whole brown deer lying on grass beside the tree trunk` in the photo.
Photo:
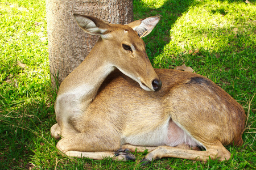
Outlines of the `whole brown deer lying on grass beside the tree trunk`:
[[90,35],[100,35],[84,61],[60,84],[51,127],[63,156],[101,160],[163,157],[229,160],[241,146],[246,114],[205,76],[154,69],[142,37],[159,16],[126,25],[73,14]]

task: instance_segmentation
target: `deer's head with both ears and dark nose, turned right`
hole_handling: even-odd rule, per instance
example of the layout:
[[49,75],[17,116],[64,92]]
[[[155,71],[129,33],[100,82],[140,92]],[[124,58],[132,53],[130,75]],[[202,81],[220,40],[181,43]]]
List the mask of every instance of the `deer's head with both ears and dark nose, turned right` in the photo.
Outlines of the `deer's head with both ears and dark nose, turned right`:
[[[123,74],[139,83],[147,91],[159,91],[162,82],[156,75],[146,54],[144,41],[159,22],[159,16],[136,20],[127,25],[109,24],[94,18],[74,14],[79,26],[90,35],[100,35],[102,62],[108,62]],[[96,48],[96,46],[94,47]]]

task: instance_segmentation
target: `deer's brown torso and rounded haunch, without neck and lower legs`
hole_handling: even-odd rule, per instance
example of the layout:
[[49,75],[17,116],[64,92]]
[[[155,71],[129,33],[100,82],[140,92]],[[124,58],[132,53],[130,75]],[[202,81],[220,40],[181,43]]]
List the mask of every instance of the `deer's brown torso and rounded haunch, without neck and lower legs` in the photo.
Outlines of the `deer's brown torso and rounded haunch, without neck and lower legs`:
[[159,134],[160,127],[166,130],[159,134],[164,135],[158,137],[161,143],[171,134],[166,126],[171,119],[200,143],[242,144],[245,112],[236,100],[204,76],[168,69],[155,71],[163,83],[159,92],[142,90],[119,71],[109,75],[86,111],[82,129],[87,129],[86,121],[97,124],[95,127],[108,122],[113,125],[110,133],[127,137]]

